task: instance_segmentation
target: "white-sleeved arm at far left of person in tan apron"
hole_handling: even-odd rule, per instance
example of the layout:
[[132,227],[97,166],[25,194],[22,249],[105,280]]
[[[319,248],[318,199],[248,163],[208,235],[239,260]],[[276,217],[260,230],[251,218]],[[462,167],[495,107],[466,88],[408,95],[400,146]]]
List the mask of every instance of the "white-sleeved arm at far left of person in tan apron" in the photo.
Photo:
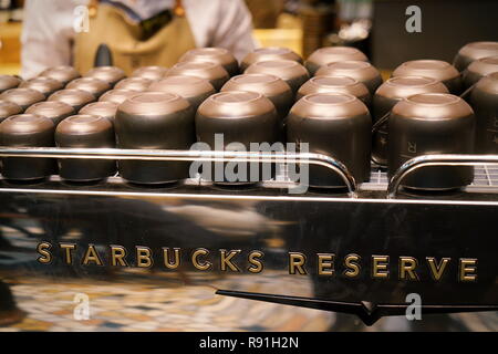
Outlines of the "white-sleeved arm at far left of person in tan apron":
[[30,79],[49,66],[71,65],[73,11],[84,1],[27,0],[21,35],[21,76]]

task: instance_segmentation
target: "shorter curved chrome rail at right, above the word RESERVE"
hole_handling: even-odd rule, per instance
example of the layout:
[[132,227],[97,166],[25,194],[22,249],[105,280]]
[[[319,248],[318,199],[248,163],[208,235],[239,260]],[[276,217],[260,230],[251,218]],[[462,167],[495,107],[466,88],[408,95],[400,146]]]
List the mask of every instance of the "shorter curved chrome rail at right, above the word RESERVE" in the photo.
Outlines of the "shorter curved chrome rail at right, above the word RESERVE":
[[404,163],[391,177],[387,186],[387,199],[396,198],[401,183],[416,169],[427,166],[478,166],[498,165],[498,155],[438,154],[423,155]]

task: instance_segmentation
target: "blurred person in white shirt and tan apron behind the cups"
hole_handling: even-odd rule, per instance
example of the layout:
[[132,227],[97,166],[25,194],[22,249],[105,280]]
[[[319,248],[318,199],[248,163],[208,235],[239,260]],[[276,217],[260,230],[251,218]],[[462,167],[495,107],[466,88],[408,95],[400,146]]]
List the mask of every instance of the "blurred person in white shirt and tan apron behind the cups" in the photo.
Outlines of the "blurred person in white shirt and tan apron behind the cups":
[[102,43],[127,73],[172,66],[194,48],[225,48],[238,60],[256,48],[243,0],[27,0],[21,43],[23,79],[55,65],[84,73]]

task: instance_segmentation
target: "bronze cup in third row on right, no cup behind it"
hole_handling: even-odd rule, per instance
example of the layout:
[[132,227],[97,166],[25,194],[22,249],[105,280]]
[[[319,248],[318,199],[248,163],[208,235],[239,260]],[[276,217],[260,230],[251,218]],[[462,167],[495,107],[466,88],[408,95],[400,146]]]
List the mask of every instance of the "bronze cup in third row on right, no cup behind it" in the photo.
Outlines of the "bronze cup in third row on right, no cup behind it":
[[464,91],[458,70],[442,60],[412,60],[397,66],[392,76],[425,76],[440,81],[454,95]]

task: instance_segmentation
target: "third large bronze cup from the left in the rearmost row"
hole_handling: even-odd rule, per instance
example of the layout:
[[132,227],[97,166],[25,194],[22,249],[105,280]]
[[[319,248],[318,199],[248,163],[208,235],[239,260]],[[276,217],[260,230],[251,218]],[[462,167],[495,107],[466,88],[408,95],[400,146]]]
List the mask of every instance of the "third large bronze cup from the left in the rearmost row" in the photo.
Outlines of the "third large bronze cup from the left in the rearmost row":
[[367,62],[365,54],[352,46],[325,46],[315,50],[305,61],[310,75],[314,76],[317,71],[326,64],[343,61],[362,61]]

